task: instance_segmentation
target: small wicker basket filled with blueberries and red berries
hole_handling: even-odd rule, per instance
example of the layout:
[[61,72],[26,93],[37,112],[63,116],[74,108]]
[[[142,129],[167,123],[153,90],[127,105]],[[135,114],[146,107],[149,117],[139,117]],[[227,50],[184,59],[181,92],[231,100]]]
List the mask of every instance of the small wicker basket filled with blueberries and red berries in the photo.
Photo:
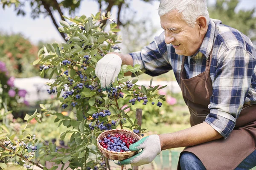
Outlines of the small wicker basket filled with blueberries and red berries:
[[123,160],[134,156],[129,146],[140,140],[140,136],[125,129],[112,129],[102,132],[97,138],[100,152],[108,159]]

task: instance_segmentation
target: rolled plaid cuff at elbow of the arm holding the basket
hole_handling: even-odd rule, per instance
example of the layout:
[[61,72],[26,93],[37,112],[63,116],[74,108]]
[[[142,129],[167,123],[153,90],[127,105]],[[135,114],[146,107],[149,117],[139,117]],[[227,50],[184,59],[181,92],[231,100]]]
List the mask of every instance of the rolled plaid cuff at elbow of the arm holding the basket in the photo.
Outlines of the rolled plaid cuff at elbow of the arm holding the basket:
[[236,125],[232,120],[213,113],[209,113],[204,122],[208,123],[213,129],[220,133],[224,139],[227,138]]

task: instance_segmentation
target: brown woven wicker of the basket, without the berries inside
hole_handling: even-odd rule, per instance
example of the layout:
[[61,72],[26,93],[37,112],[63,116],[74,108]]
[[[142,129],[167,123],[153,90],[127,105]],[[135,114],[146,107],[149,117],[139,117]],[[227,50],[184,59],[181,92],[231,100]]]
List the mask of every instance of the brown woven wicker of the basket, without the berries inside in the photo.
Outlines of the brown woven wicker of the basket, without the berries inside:
[[130,158],[132,156],[134,156],[137,152],[136,151],[127,151],[127,152],[114,152],[111,150],[107,150],[104,147],[102,147],[99,144],[99,140],[103,140],[105,137],[107,137],[108,135],[114,136],[116,133],[125,135],[127,138],[131,137],[133,138],[136,142],[140,140],[140,136],[138,136],[136,133],[133,133],[129,130],[125,130],[125,129],[112,129],[112,130],[106,130],[104,132],[102,132],[98,138],[97,138],[97,145],[99,147],[100,152],[107,157],[108,159],[112,159],[112,160],[123,160],[123,159],[127,159]]

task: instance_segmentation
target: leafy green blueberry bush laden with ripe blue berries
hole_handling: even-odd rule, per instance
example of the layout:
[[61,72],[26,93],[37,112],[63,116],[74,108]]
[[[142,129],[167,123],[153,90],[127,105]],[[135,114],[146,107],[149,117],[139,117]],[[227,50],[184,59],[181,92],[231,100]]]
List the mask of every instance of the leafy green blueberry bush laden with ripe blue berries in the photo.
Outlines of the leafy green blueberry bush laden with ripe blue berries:
[[[67,130],[61,133],[60,140],[67,140],[68,137],[69,142],[66,148],[58,150],[56,144],[49,142],[49,145],[40,148],[37,159],[42,166],[45,161],[54,162],[51,170],[66,163],[71,169],[110,169],[108,159],[104,158],[97,148],[96,138],[104,130],[115,128],[126,128],[138,134],[145,132],[146,129],[137,125],[137,119],[130,117],[135,111],[127,109],[135,103],[161,107],[161,101],[165,98],[164,95],[157,94],[157,91],[165,86],[151,86],[152,79],[149,88],[136,85],[138,79],[130,81],[124,77],[124,73],[130,71],[136,75],[141,72],[140,65],[122,65],[121,72],[115,82],[112,82],[111,88],[102,91],[100,81],[95,75],[95,66],[105,54],[119,51],[117,44],[120,43],[120,37],[116,32],[120,30],[116,28],[115,20],[111,18],[110,13],[65,18],[70,23],[61,21],[63,27],[60,27],[59,31],[67,34],[67,42],[61,45],[47,44],[39,50],[38,59],[33,64],[40,64],[41,77],[46,74],[49,78],[56,77],[54,82],[48,83],[48,93],[57,94],[61,102],[60,107],[64,111],[71,111],[74,116],[54,111],[52,105],[41,104],[41,112],[27,115],[26,119],[31,121],[35,118],[40,122],[41,114],[55,116],[54,122],[58,126],[67,127]],[[106,20],[107,24],[103,26],[103,21]],[[17,146],[17,156],[17,153],[20,153],[20,142],[23,144],[22,140],[15,142],[10,140],[7,134],[3,139],[7,139],[4,141],[0,138],[4,145],[11,142],[12,147]],[[27,136],[24,143],[27,141],[32,142],[31,146],[35,149],[33,136]],[[25,148],[26,152],[32,150],[29,144],[28,146],[29,148]],[[5,152],[10,151],[5,149]],[[23,166],[25,164],[25,167],[27,164],[35,164],[27,158],[25,162],[19,163]],[[47,170],[47,167],[43,169]]]

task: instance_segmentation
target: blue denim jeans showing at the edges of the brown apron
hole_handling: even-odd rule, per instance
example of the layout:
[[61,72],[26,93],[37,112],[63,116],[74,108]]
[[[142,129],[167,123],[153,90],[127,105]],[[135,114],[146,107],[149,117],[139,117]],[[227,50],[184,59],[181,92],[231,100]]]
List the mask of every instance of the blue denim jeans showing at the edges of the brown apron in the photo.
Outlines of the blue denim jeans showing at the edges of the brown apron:
[[[256,166],[256,150],[245,158],[235,170],[250,170]],[[183,152],[180,156],[180,167],[182,170],[206,170],[203,163],[195,154]]]

